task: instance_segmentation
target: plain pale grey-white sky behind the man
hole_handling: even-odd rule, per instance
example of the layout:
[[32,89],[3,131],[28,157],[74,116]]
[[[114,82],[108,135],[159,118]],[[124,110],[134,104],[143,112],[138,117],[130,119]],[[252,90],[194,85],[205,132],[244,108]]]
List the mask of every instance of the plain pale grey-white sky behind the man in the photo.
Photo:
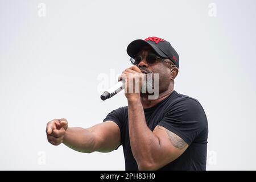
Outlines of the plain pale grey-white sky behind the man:
[[207,169],[255,170],[255,7],[253,0],[0,0],[0,169],[125,169],[122,147],[82,154],[52,146],[46,123],[90,127],[127,105],[123,93],[100,100],[100,75],[112,86],[130,67],[127,45],[158,36],[180,55],[175,90],[207,113]]

